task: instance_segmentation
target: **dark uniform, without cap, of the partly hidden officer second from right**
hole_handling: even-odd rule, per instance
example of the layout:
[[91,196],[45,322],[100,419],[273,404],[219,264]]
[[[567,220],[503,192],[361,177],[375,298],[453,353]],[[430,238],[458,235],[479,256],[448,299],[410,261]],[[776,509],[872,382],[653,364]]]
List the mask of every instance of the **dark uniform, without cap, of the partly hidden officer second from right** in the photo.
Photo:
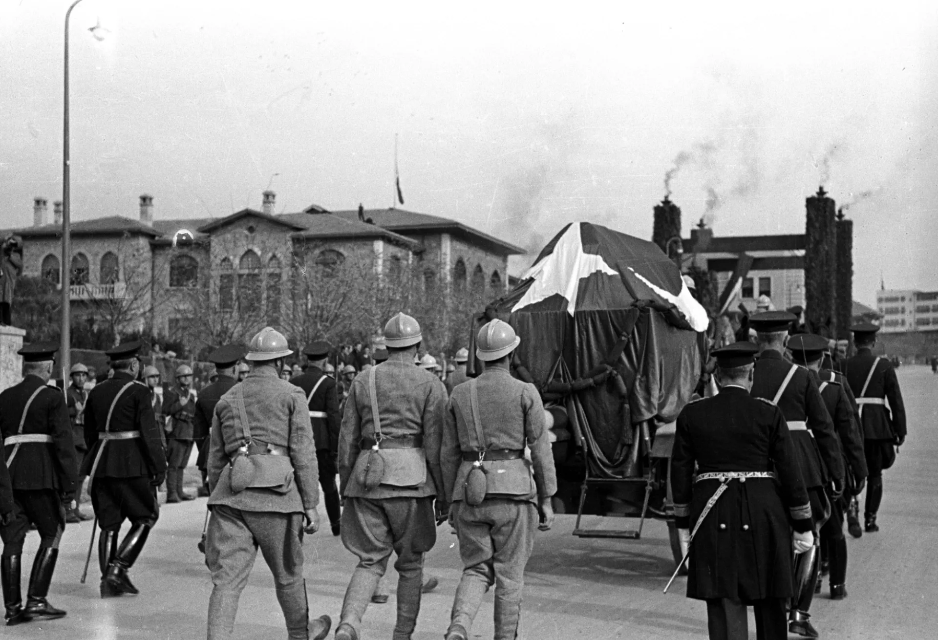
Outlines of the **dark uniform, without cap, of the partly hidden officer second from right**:
[[[867,463],[863,455],[863,436],[859,433],[855,421],[854,406],[847,391],[838,381],[837,373],[822,370],[817,377],[827,413],[834,420],[837,429],[844,465],[850,470],[853,479],[847,484],[855,486],[855,482],[866,479]],[[848,499],[849,496],[845,492],[838,499],[831,500],[831,515],[821,527],[821,544],[822,548],[826,548],[830,564],[831,592],[839,598],[846,595],[844,585],[847,576],[847,541],[843,536],[843,519]]]

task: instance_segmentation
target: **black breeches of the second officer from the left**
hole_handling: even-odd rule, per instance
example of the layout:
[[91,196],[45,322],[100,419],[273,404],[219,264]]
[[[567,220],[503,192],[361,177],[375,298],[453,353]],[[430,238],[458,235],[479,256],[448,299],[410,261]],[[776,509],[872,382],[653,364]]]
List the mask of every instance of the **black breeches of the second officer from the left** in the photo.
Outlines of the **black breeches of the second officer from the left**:
[[88,487],[102,529],[118,529],[124,519],[153,526],[159,519],[157,489],[145,476],[94,478]]

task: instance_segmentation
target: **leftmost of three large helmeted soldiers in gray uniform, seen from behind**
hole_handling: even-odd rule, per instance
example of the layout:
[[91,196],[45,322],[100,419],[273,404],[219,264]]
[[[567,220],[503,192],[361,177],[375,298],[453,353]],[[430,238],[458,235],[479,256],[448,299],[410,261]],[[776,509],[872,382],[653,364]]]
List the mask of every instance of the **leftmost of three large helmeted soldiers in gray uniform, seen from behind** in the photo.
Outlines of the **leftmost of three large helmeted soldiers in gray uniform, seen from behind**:
[[278,331],[261,329],[245,357],[250,373],[215,405],[205,541],[214,585],[208,640],[234,631],[258,547],[274,574],[288,637],[323,640],[332,626],[328,616],[310,621],[303,579],[303,534],[319,529],[319,469],[306,396],[280,379],[292,353]]

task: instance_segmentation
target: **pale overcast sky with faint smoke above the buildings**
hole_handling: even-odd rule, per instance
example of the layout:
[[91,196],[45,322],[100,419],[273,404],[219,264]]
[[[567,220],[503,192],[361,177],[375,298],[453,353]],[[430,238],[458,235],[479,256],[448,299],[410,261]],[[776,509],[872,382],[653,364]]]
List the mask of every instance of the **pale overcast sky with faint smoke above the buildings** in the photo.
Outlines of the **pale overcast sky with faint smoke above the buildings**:
[[[855,298],[938,289],[933,2],[318,4],[83,0],[73,217],[390,206],[397,133],[402,208],[535,253],[568,221],[651,236],[677,166],[685,236],[708,206],[803,233],[823,183]],[[66,8],[0,0],[0,227],[61,198]]]

